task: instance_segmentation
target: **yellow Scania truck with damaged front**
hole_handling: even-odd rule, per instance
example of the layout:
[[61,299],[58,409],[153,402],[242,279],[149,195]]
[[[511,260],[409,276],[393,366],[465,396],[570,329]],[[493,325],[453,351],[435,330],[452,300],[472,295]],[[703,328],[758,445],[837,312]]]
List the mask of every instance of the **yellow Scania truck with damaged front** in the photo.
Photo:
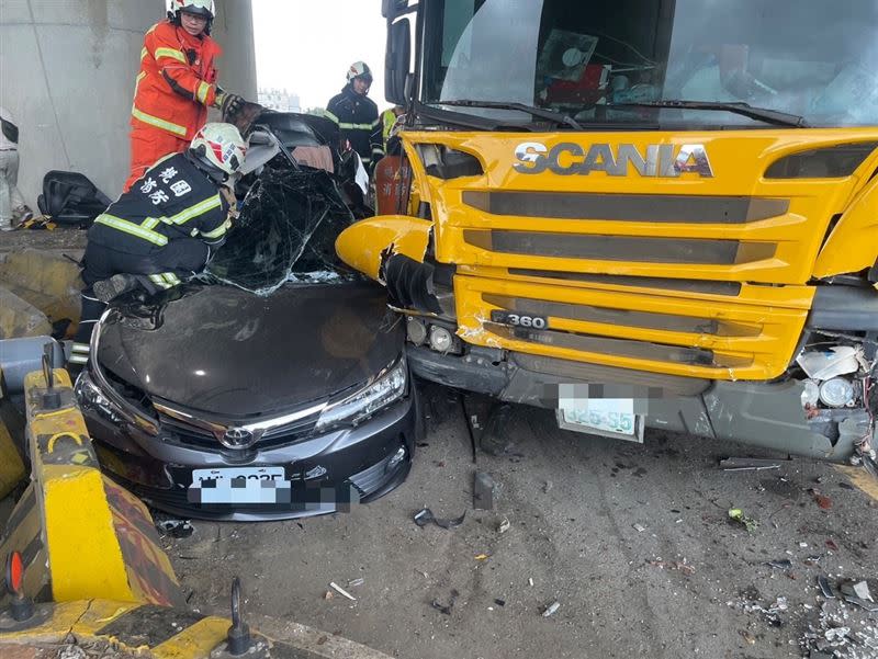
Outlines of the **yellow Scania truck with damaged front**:
[[583,432],[874,468],[878,4],[383,12],[403,194],[337,250],[417,375]]

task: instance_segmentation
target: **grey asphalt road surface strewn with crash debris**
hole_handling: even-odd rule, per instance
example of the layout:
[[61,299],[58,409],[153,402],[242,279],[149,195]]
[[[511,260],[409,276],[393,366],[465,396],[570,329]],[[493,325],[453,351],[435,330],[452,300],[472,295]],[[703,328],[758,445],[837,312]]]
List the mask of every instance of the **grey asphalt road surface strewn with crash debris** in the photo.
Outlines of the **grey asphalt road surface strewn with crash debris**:
[[[166,537],[190,604],[223,611],[239,575],[249,612],[404,659],[878,657],[878,613],[828,600],[815,582],[867,580],[878,600],[876,488],[857,470],[795,458],[723,471],[720,457],[755,454],[560,431],[529,408],[513,414],[507,453],[474,465],[457,398],[432,387],[427,398],[429,435],[384,499]],[[476,467],[497,482],[493,511],[473,510]],[[466,518],[418,527],[425,505]],[[767,565],[780,560],[789,567]]]

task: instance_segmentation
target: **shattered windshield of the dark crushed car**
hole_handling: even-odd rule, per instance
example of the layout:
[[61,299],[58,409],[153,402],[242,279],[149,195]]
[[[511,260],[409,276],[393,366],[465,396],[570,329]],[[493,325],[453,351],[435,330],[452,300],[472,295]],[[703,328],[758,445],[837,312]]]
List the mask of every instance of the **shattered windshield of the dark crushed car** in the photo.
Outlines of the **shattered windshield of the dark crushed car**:
[[205,279],[257,295],[270,295],[286,283],[358,279],[335,250],[336,238],[352,223],[327,172],[266,168]]

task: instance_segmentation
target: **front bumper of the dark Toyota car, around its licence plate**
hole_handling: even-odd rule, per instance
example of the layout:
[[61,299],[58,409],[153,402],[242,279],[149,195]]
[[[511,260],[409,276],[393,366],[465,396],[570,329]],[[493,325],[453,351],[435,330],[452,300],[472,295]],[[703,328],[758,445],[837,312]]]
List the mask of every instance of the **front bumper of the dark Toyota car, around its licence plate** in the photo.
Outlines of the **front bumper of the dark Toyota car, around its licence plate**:
[[[77,389],[101,391],[88,370]],[[176,441],[159,427],[150,434],[119,416],[87,404],[82,413],[103,469],[151,507],[193,519],[270,521],[346,510],[386,495],[408,475],[415,447],[418,400],[408,395],[354,428],[308,435],[285,445],[257,446],[238,454],[217,442],[215,450]],[[211,503],[192,499],[193,469],[282,467],[290,501],[282,503]]]

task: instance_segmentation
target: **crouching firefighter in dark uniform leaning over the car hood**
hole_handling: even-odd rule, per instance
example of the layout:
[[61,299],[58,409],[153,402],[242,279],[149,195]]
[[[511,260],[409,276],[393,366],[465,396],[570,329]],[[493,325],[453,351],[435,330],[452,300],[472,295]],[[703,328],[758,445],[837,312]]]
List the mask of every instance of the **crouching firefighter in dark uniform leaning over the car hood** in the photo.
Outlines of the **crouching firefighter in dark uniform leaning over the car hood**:
[[230,227],[223,184],[247,146],[230,124],[207,124],[182,154],[156,162],[94,220],[83,257],[82,314],[69,365],[88,362],[94,325],[113,298],[172,288],[201,272]]

